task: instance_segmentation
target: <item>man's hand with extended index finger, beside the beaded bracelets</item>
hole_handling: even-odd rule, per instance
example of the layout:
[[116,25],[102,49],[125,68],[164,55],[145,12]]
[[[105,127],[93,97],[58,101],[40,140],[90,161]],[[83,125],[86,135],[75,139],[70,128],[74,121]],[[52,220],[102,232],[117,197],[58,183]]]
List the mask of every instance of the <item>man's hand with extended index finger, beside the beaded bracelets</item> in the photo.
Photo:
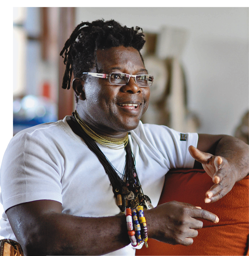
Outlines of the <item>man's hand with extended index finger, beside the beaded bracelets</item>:
[[197,229],[203,226],[198,219],[219,222],[219,218],[207,210],[176,201],[158,205],[144,214],[149,237],[173,245],[193,243],[193,238],[198,235]]

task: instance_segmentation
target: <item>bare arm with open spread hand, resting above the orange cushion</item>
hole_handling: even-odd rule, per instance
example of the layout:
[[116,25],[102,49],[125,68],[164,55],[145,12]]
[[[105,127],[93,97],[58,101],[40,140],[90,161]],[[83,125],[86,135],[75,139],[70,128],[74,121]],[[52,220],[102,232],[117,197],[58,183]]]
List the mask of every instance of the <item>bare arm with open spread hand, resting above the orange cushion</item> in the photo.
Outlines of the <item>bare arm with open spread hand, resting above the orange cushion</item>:
[[190,146],[189,151],[194,168],[202,165],[215,183],[206,192],[206,203],[222,198],[249,173],[249,145],[232,136],[199,134],[197,149]]

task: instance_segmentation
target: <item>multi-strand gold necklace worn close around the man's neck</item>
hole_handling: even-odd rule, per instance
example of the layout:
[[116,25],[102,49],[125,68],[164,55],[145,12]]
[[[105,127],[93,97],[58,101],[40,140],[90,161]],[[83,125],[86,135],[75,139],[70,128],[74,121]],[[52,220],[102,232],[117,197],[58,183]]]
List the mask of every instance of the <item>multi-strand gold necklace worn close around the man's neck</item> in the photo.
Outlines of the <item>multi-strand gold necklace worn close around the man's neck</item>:
[[125,137],[123,138],[111,138],[104,136],[102,134],[99,134],[97,132],[94,132],[85,122],[80,118],[77,111],[75,110],[75,118],[77,122],[80,124],[82,129],[87,133],[91,138],[93,138],[96,142],[98,142],[101,145],[104,145],[106,147],[112,148],[112,149],[121,149],[124,148],[128,141],[128,132],[126,133]]

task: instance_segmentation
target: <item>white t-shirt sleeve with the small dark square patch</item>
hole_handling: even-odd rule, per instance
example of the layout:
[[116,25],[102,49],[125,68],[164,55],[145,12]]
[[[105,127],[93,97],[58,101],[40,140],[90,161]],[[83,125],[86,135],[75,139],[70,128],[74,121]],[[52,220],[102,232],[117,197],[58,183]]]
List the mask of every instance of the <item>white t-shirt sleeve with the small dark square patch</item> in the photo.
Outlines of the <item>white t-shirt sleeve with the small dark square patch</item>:
[[190,155],[188,147],[197,147],[197,133],[177,132],[164,125],[143,124],[139,126],[139,137],[163,159],[169,169],[193,168],[195,159]]

